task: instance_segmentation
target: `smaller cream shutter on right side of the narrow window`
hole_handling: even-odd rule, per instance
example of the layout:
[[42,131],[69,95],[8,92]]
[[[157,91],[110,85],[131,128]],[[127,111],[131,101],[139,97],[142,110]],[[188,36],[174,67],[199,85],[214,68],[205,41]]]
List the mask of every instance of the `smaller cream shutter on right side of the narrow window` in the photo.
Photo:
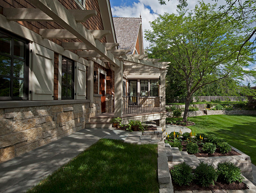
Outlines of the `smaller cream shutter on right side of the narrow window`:
[[86,99],[86,66],[77,62],[76,68],[76,99]]

